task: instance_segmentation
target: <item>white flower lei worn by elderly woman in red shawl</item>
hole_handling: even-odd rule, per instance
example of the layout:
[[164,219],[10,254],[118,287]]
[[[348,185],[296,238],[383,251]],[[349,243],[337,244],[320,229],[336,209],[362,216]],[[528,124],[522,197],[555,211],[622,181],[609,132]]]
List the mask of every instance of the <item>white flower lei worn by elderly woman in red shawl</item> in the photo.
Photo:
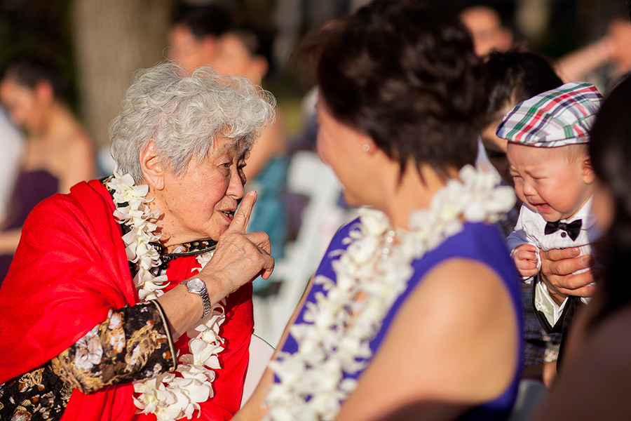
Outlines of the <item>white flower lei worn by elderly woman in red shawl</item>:
[[[137,273],[134,285],[140,300],[155,300],[163,295],[163,288],[169,281],[166,275],[155,276],[154,271],[161,263],[155,243],[160,235],[154,234],[159,211],[151,211],[146,199],[149,186],[134,185],[129,174],[121,175],[114,171],[114,176],[107,187],[114,196],[116,210],[114,216],[125,224],[130,231],[123,235],[127,259],[135,264]],[[201,270],[212,258],[213,251],[197,255],[201,265],[194,270]],[[219,336],[219,328],[226,318],[225,300],[218,302],[208,316],[198,326],[186,332],[189,338],[191,354],[179,356],[179,365],[175,373],[161,373],[148,380],[134,382],[134,403],[138,413],[153,413],[158,421],[191,418],[194,411],[201,411],[199,403],[214,395],[212,382],[215,371],[221,366],[217,355],[224,350],[224,339]]]

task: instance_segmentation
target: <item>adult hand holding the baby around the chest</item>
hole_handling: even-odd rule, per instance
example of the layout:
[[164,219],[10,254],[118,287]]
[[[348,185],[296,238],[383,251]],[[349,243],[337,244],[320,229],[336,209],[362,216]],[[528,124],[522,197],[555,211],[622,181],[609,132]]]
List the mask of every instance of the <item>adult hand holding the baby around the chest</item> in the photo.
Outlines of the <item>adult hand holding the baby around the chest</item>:
[[[562,248],[542,251],[541,280],[548,287],[552,299],[562,303],[568,295],[591,297],[595,293],[592,283],[594,259],[590,255],[579,256],[578,248]],[[587,272],[574,272],[590,268]]]

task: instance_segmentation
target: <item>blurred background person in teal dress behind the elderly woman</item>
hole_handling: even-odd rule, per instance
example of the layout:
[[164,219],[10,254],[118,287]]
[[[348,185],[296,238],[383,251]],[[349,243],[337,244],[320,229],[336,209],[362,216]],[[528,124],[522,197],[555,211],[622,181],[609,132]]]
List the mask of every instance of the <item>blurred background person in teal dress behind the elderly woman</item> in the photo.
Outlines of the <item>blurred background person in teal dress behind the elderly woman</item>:
[[[273,33],[255,27],[240,27],[224,33],[214,62],[217,72],[231,76],[245,76],[261,86],[272,65]],[[252,147],[247,165],[243,168],[247,189],[257,192],[257,207],[252,213],[249,229],[269,235],[274,258],[283,257],[287,234],[287,211],[283,202],[287,175],[287,135],[283,114],[276,109],[276,122],[265,128]],[[264,289],[271,279],[256,279],[255,293]]]

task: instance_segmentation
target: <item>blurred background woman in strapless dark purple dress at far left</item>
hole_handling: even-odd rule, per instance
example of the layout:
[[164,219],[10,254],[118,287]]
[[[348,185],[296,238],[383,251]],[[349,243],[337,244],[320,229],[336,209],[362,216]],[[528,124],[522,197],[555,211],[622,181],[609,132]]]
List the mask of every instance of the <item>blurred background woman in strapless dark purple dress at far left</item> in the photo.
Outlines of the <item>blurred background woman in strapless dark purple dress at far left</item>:
[[13,199],[0,232],[0,280],[11,265],[27,215],[53,194],[68,193],[95,174],[93,142],[67,104],[68,85],[52,60],[24,56],[8,62],[0,100],[27,133]]

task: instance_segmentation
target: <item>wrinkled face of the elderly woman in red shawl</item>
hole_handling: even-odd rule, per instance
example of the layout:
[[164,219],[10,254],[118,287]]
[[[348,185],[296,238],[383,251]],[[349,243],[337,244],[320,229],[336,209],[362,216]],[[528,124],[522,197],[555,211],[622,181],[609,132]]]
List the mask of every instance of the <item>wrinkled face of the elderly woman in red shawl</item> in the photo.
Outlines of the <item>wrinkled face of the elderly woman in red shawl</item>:
[[246,151],[225,138],[215,145],[213,154],[192,160],[181,175],[166,173],[164,189],[154,192],[155,208],[164,213],[164,246],[217,240],[234,218],[244,194]]

